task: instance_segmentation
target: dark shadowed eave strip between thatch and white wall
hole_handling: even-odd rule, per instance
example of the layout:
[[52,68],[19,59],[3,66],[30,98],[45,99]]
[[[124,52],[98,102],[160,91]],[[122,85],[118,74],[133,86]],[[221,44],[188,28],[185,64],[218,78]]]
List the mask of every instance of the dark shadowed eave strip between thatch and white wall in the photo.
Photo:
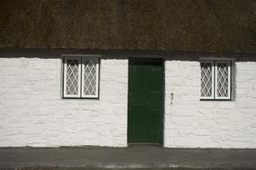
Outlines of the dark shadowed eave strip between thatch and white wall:
[[0,48],[0,57],[16,58],[62,58],[61,55],[83,54],[102,55],[102,58],[124,59],[132,57],[163,58],[179,61],[199,61],[201,57],[234,58],[235,62],[256,62],[256,54],[216,54],[181,51],[145,51],[145,50],[85,50],[85,49],[35,49],[35,48]]

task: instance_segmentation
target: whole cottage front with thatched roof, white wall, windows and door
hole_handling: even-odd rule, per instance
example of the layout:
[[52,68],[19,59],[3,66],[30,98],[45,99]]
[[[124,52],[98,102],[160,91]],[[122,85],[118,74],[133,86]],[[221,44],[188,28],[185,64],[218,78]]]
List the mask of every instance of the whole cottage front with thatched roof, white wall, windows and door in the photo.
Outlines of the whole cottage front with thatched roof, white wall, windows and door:
[[0,4],[0,147],[256,148],[255,1]]

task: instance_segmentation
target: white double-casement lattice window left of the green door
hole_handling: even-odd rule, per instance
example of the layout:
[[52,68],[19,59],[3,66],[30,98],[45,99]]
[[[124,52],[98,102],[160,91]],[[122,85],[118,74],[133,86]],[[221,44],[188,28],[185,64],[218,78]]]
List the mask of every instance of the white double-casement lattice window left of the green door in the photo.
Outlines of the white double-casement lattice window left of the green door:
[[65,56],[64,98],[99,97],[99,58]]

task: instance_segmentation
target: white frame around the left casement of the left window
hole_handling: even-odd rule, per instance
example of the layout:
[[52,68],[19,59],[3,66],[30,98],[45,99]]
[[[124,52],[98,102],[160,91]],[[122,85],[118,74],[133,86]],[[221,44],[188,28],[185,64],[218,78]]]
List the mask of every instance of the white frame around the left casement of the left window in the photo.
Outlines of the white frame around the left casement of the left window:
[[[77,95],[67,95],[66,94],[66,61],[67,60],[78,60],[79,65],[78,65],[78,91]],[[63,86],[64,86],[64,93],[63,96],[64,98],[80,98],[81,94],[81,57],[65,57],[64,61],[64,81],[63,81]]]

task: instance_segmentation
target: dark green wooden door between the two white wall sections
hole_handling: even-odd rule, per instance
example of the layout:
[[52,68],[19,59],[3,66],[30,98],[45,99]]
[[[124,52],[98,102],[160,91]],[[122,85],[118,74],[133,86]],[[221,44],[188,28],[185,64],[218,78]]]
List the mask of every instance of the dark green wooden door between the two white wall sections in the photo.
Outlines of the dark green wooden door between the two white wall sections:
[[163,61],[128,63],[128,143],[163,144]]

